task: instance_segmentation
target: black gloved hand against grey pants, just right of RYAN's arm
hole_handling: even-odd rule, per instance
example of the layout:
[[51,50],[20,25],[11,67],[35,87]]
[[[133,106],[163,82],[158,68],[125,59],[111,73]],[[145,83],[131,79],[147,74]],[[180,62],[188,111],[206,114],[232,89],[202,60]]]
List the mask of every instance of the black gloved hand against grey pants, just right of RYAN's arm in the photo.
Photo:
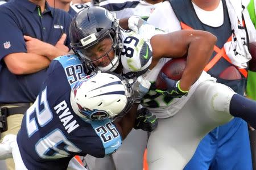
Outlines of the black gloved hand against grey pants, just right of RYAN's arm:
[[141,108],[137,111],[134,129],[152,131],[158,126],[158,120],[148,109]]

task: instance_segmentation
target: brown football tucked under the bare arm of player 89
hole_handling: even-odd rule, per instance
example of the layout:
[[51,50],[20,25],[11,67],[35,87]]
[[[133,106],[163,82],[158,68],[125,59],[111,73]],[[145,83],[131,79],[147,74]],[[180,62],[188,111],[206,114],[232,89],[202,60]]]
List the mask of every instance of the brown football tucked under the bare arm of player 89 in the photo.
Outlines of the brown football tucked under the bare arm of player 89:
[[165,63],[162,69],[160,70],[158,77],[156,78],[156,81],[155,81],[156,88],[160,90],[167,89],[166,82],[159,76],[161,73],[166,74],[168,78],[172,80],[180,80],[187,63],[186,59],[187,58],[184,58],[184,57],[173,58],[167,63]]

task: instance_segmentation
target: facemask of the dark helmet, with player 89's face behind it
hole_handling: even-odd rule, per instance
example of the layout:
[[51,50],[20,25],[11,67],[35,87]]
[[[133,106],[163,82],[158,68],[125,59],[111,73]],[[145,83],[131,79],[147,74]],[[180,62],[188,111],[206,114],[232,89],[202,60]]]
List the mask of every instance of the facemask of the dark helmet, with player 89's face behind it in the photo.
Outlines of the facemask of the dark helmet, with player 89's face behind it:
[[[114,27],[104,32],[99,32],[98,35],[92,33],[84,37],[79,42],[81,45],[75,46],[75,52],[79,55],[84,65],[87,68],[89,67],[90,70],[107,72],[117,69],[122,42],[119,37],[120,30],[118,20],[114,20],[113,25]],[[98,55],[98,53],[100,53],[100,55]],[[108,65],[105,64],[106,62]]]

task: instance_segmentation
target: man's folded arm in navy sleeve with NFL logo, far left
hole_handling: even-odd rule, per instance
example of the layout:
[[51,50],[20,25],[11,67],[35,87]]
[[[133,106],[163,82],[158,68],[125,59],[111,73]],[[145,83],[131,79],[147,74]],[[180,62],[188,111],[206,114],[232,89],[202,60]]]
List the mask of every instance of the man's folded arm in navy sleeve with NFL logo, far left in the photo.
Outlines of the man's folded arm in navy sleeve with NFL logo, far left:
[[0,42],[6,42],[8,45],[0,46],[0,59],[3,59],[11,73],[35,73],[49,65],[50,61],[45,56],[27,53],[26,42],[18,19],[7,8],[2,8],[0,22],[5,23],[0,27],[0,32],[5,32],[0,36]]

